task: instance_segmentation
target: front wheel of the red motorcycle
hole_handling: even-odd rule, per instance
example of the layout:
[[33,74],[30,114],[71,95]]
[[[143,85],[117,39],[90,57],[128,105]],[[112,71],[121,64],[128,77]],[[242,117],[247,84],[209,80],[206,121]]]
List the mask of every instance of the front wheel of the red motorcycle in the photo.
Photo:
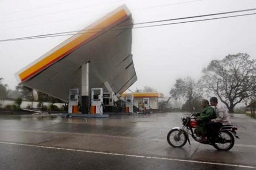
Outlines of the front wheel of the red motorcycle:
[[167,135],[168,143],[174,148],[181,148],[188,141],[188,136],[184,130],[172,129]]

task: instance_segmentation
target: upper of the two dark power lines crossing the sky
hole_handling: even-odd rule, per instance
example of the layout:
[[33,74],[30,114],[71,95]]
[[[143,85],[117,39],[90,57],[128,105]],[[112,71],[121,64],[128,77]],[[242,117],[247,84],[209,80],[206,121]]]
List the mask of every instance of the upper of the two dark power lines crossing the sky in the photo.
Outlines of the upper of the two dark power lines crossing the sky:
[[[164,20],[156,20],[156,21],[148,21],[148,22],[140,22],[140,23],[134,23],[134,24],[125,24],[122,26],[116,26],[116,27],[124,27],[124,26],[134,26],[134,25],[141,25],[141,24],[152,24],[157,22],[167,22],[167,21],[174,21],[174,20],[181,20],[181,19],[191,19],[191,18],[201,18],[201,17],[209,17],[209,16],[215,16],[215,15],[223,15],[223,14],[231,14],[231,13],[238,13],[238,12],[245,12],[245,11],[255,11],[256,8],[252,9],[245,9],[245,10],[237,10],[237,11],[228,11],[228,12],[220,12],[220,13],[213,13],[213,14],[205,14],[205,15],[196,15],[196,16],[190,16],[190,17],[182,17],[182,18],[172,18],[172,19],[164,19]],[[245,14],[246,15],[246,14]],[[249,14],[251,15],[251,14]],[[244,15],[238,15],[238,16],[244,16]],[[236,17],[236,16],[232,16]],[[228,17],[227,17],[228,18]],[[217,18],[220,19],[220,18]],[[189,21],[190,22],[190,21]],[[180,23],[180,22],[179,22]],[[183,23],[183,22],[182,22]],[[172,24],[172,23],[171,23]],[[169,25],[169,24],[167,24]],[[20,38],[12,38],[12,39],[6,39],[6,40],[0,40],[0,41],[12,41],[12,40],[18,40],[18,39],[28,39],[28,38],[34,38],[34,37],[44,37],[44,36],[51,36],[51,35],[58,35],[58,34],[66,34],[66,33],[76,33],[76,32],[84,32],[84,31],[91,31],[91,30],[101,30],[101,29],[109,29],[111,27],[101,27],[97,29],[84,29],[84,30],[76,30],[76,31],[67,31],[67,32],[60,32],[60,33],[49,33],[49,34],[42,34],[42,35],[35,35],[35,36],[27,36],[27,37],[20,37]],[[102,30],[101,30],[102,31]],[[91,32],[92,33],[92,32]],[[71,35],[71,34],[67,34]]]

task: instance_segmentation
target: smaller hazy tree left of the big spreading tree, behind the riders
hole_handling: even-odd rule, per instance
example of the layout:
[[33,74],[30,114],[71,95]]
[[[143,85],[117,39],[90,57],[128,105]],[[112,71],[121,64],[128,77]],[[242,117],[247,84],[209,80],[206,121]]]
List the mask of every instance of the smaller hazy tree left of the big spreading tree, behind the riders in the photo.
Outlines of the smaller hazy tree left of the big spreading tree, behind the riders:
[[186,100],[186,111],[191,111],[195,104],[195,101],[200,100],[202,96],[200,90],[198,89],[198,84],[192,78],[178,78],[176,79],[174,88],[170,90],[170,95],[175,100]]

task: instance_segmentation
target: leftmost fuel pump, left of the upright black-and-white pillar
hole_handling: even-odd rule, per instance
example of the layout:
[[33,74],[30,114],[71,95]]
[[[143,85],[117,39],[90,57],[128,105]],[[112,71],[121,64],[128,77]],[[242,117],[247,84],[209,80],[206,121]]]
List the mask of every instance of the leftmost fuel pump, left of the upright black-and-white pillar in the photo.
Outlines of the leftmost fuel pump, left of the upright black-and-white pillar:
[[68,90],[68,113],[79,112],[79,89]]

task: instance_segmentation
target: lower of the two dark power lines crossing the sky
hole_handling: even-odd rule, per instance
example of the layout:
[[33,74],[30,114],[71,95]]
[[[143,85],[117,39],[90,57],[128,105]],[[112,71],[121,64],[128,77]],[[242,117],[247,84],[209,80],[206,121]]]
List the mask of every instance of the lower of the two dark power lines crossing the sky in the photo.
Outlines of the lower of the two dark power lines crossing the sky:
[[[110,31],[120,31],[120,30],[128,30],[128,29],[148,28],[148,27],[166,26],[166,25],[176,25],[176,24],[184,24],[184,23],[192,23],[192,22],[200,22],[200,21],[209,21],[209,20],[216,20],[216,19],[223,19],[223,18],[233,18],[233,17],[249,16],[249,15],[255,15],[255,14],[256,13],[250,13],[250,14],[232,15],[232,16],[218,17],[218,18],[207,18],[207,19],[199,19],[199,20],[167,23],[167,24],[150,25],[150,26],[138,26],[138,27],[130,27],[130,28],[122,28],[122,29],[113,29],[113,30],[110,30]],[[98,32],[101,32],[101,31],[90,32],[90,33],[98,33]],[[29,40],[29,39],[38,39],[38,38],[49,38],[49,37],[59,37],[59,36],[68,36],[68,35],[77,35],[77,34],[84,34],[84,33],[72,33],[72,34],[61,34],[61,35],[51,35],[51,34],[48,34],[47,36],[34,36],[34,37],[26,37],[26,38],[6,39],[6,40],[0,40],[0,42],[3,42],[3,41]]]

